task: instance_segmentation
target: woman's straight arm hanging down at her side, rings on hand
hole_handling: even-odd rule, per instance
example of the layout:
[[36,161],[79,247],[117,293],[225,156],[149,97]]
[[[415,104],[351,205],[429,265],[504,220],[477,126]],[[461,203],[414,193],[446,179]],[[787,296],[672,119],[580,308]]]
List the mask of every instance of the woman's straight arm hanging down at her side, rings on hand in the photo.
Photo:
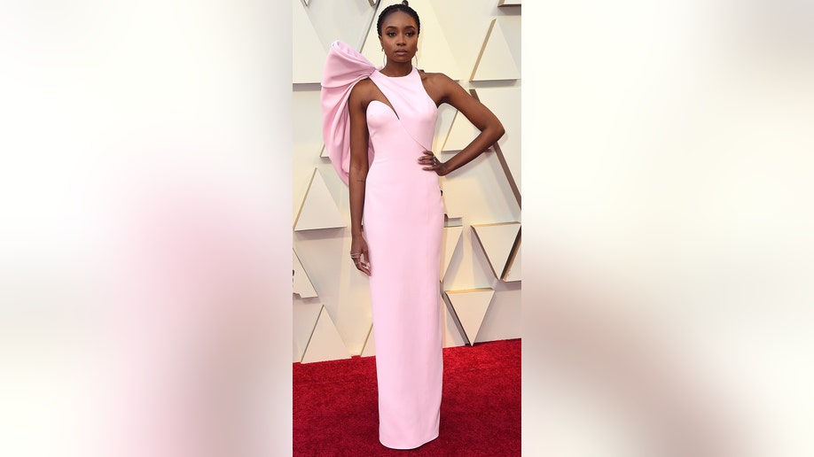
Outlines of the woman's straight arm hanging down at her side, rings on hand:
[[354,256],[356,269],[365,275],[371,275],[370,257],[362,228],[365,180],[369,166],[367,162],[369,134],[364,104],[364,81],[359,81],[351,89],[348,98],[348,112],[350,114],[350,168],[348,170],[350,253],[351,256]]

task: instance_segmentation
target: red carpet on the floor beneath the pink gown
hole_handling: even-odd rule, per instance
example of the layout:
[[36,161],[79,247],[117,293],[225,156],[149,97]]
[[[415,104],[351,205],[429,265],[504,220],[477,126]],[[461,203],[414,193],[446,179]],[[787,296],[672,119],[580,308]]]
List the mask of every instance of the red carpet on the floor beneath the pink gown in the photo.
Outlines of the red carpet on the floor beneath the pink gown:
[[294,363],[294,455],[520,455],[520,339],[443,350],[438,438],[379,443],[376,360]]

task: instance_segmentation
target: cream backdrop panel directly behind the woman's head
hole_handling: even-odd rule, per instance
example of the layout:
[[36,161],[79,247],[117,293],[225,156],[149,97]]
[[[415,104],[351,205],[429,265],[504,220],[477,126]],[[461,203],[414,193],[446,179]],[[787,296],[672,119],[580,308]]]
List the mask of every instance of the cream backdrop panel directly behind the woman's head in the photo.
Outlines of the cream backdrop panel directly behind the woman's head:
[[[374,18],[378,19],[380,12],[388,5],[380,4]],[[447,42],[447,38],[443,34],[444,27],[438,22],[432,2],[429,0],[412,0],[410,6],[417,12],[421,12],[419,52],[416,54],[419,61],[417,67],[427,69],[428,72],[446,74],[456,81],[460,80],[461,70],[458,67],[458,61],[450,49],[450,43]],[[382,62],[384,53],[381,51],[379,31],[376,30],[376,19],[373,19],[367,37],[364,39],[362,55],[370,60],[374,66],[384,65]],[[415,59],[413,62],[415,62]]]

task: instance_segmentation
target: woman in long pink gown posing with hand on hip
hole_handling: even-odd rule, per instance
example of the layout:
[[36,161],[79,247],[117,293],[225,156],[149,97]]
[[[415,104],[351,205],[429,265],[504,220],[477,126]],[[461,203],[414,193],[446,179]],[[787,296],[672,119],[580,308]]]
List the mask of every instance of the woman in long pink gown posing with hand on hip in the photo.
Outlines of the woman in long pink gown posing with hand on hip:
[[[437,438],[440,421],[438,176],[466,165],[504,128],[455,81],[412,66],[420,21],[406,1],[387,6],[376,27],[386,58],[381,68],[347,44],[331,46],[321,94],[323,133],[349,188],[350,257],[370,277],[380,443],[411,449]],[[442,103],[481,130],[447,162],[431,151]]]

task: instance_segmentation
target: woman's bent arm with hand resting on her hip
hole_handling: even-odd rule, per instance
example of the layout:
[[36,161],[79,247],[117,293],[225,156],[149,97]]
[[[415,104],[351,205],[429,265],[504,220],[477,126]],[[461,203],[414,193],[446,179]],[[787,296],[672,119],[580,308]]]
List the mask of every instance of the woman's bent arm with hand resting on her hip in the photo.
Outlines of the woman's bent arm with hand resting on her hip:
[[465,166],[481,155],[481,152],[489,149],[489,146],[497,143],[497,140],[505,133],[505,129],[500,120],[497,120],[497,116],[489,111],[489,108],[466,93],[466,90],[457,82],[452,81],[449,76],[434,74],[434,79],[434,89],[438,90],[438,93],[442,95],[441,103],[452,105],[458,112],[464,114],[466,119],[472,122],[476,128],[481,130],[481,133],[475,136],[472,143],[469,143],[466,148],[446,162],[438,162],[434,165],[433,152],[425,151],[425,156],[420,160],[422,165],[427,166],[424,169],[432,170],[439,176],[443,176]]

